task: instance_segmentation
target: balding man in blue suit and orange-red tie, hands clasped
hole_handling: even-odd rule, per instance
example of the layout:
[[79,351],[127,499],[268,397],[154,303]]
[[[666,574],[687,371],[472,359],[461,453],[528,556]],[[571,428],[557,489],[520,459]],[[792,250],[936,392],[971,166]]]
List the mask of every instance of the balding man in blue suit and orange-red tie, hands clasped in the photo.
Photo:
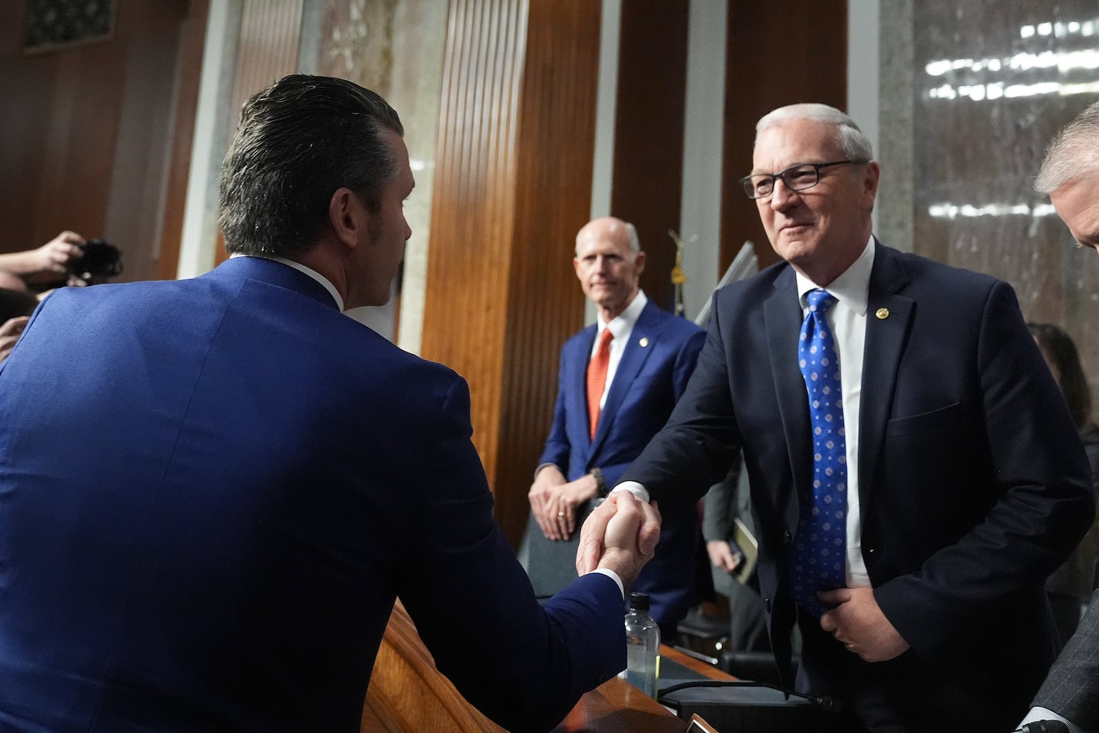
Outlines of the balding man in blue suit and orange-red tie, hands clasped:
[[[641,290],[645,253],[633,224],[614,216],[588,222],[576,235],[573,267],[598,320],[560,349],[553,426],[529,492],[524,544],[540,596],[576,578],[576,527],[664,426],[706,337]],[[650,614],[670,641],[698,602],[702,540],[697,511],[675,507],[662,515],[656,556],[634,590],[648,593]]]

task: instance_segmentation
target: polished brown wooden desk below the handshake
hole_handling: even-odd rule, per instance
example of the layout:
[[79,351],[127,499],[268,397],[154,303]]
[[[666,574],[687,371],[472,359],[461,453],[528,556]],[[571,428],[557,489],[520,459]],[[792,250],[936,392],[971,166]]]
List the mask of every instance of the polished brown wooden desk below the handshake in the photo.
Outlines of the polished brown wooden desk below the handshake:
[[[664,658],[714,679],[733,679],[721,670],[660,647]],[[586,693],[554,729],[555,733],[684,733],[685,721],[618,678]],[[397,603],[378,649],[370,688],[363,706],[360,733],[507,733],[458,693],[435,669],[404,607]]]

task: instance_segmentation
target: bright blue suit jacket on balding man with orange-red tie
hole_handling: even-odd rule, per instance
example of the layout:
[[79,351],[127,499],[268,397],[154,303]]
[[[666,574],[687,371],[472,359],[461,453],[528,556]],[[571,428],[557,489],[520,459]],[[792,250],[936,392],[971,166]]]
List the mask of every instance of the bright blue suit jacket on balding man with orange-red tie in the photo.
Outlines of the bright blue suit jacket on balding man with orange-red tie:
[[[706,332],[650,300],[622,353],[592,440],[587,369],[595,340],[596,326],[590,325],[562,347],[553,426],[539,464],[555,464],[569,481],[600,468],[607,485],[614,486],[671,414]],[[588,511],[585,507],[584,515]],[[700,536],[697,512],[676,508],[664,513],[656,556],[634,585],[650,595],[650,613],[658,623],[681,619],[693,602]],[[578,540],[575,533],[568,541],[551,542],[533,519],[528,521],[528,567],[539,595],[552,595],[576,577]]]

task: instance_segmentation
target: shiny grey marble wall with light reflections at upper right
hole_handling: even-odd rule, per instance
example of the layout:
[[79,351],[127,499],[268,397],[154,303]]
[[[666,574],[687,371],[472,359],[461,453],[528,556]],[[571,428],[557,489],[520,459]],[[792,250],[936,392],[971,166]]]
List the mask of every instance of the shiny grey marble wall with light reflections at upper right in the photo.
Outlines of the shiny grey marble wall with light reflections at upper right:
[[1032,181],[1052,136],[1099,99],[1095,0],[882,0],[878,233],[1010,282],[1099,385],[1099,262]]

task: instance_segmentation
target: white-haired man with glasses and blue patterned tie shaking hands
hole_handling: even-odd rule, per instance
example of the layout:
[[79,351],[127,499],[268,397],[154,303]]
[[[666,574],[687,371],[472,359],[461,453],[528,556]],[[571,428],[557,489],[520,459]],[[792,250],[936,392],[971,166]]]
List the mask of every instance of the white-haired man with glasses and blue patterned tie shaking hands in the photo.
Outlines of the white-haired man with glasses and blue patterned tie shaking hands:
[[693,502],[740,448],[784,681],[843,701],[845,731],[1002,733],[1056,656],[1045,578],[1091,523],[1090,473],[1011,288],[877,242],[878,176],[839,110],[759,120],[744,192],[786,262],[714,295],[615,490]]

